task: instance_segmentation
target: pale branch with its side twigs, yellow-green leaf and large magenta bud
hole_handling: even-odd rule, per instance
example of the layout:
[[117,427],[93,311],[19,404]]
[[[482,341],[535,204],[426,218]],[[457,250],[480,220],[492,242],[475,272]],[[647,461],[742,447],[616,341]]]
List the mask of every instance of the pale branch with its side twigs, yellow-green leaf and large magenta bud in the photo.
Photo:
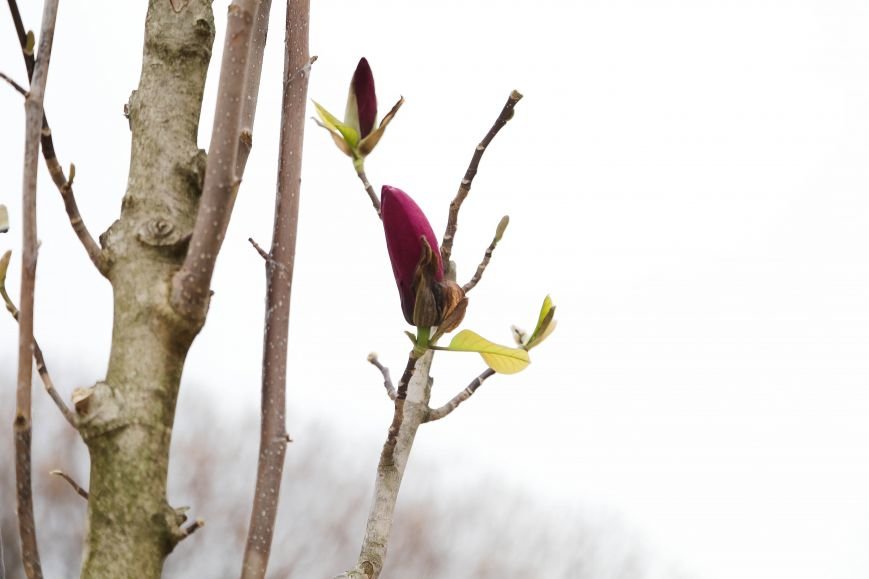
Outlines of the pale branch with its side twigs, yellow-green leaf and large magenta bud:
[[[438,337],[443,333],[452,331],[461,323],[468,304],[465,293],[473,289],[480,281],[495,246],[500,241],[509,222],[506,216],[501,219],[496,228],[495,236],[476,273],[464,288],[459,287],[454,279],[448,276],[448,271],[445,271],[452,252],[459,209],[470,192],[471,184],[486,147],[498,134],[498,131],[512,118],[513,109],[521,98],[522,95],[517,91],[511,93],[495,124],[477,145],[459,191],[450,204],[449,221],[440,250],[438,250],[437,240],[434,238],[428,220],[413,200],[395,187],[383,187],[382,205],[379,213],[386,232],[387,249],[399,288],[405,320],[416,326],[418,333],[414,338],[414,350],[409,356],[407,367],[397,389],[392,386],[389,370],[379,363],[376,356],[369,356],[369,362],[376,366],[383,375],[387,395],[394,400],[395,412],[377,465],[374,498],[368,515],[365,538],[362,542],[359,558],[353,569],[339,575],[336,579],[377,579],[380,576],[386,557],[386,548],[389,543],[401,479],[419,426],[424,422],[437,420],[452,412],[464,400],[472,396],[487,378],[495,374],[495,368],[500,368],[498,371],[511,373],[521,370],[528,364],[526,352],[522,351],[522,356],[517,356],[516,349],[498,346],[468,330],[460,333],[465,334],[465,338],[460,343],[456,344],[454,339],[449,348],[438,348],[434,345]],[[321,118],[324,119],[323,124],[328,122],[334,127],[341,127],[335,122],[334,117],[329,117],[322,111]],[[326,126],[330,128],[328,124]],[[344,150],[340,139],[336,137],[336,132],[340,131],[332,132],[339,148]],[[372,191],[370,191],[364,173],[358,167],[357,171],[366,190],[369,190],[369,195],[371,195]],[[430,334],[432,326],[437,327],[434,334]],[[429,407],[432,383],[429,373],[432,356],[436,349],[480,352],[484,354],[484,358],[489,356],[486,360],[491,367],[480,374],[444,407],[432,410]]]

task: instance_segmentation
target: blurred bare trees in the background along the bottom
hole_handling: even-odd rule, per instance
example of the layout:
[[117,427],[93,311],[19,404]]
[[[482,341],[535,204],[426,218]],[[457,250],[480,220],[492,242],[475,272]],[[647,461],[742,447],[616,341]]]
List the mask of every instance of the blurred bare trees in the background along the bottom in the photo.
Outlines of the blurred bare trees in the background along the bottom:
[[[256,457],[255,424],[223,419],[204,404],[179,426],[173,446],[174,478],[170,499],[195,503],[206,527],[177,548],[167,560],[164,577],[231,577],[238,573],[249,515],[249,493]],[[8,418],[8,393],[0,397]],[[50,416],[44,396],[34,414]],[[34,482],[37,526],[47,577],[78,577],[84,533],[85,501],[63,480],[62,470],[84,484],[84,445],[66,425],[52,421],[37,432]],[[215,441],[220,441],[215,443]],[[294,433],[287,454],[284,491],[293,500],[281,503],[269,577],[330,577],[358,551],[365,524],[369,478],[377,457],[371,441],[368,456],[359,441],[335,438],[326,425],[305,424]],[[12,496],[11,464],[0,464],[0,501]],[[511,490],[503,483],[479,479],[459,487],[444,483],[447,467],[419,462],[409,475],[396,512],[385,576],[414,579],[677,579],[685,577],[656,561],[619,517],[556,505]],[[0,531],[7,579],[23,579],[13,509],[0,510]]]

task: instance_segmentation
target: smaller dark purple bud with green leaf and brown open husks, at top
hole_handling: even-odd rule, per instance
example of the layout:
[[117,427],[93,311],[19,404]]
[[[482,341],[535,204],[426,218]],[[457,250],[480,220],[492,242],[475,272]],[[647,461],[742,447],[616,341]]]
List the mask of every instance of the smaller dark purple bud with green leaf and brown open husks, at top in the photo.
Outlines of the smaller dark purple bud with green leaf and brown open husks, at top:
[[377,94],[374,91],[374,75],[371,67],[363,57],[356,66],[353,79],[350,82],[350,90],[347,94],[347,106],[344,110],[344,121],[339,121],[335,115],[323,108],[320,103],[314,101],[317,115],[320,120],[317,124],[329,131],[332,140],[345,155],[353,159],[357,169],[360,169],[366,155],[374,150],[386,126],[398,112],[398,108],[404,102],[399,99],[392,107],[380,125],[375,128],[377,122]]

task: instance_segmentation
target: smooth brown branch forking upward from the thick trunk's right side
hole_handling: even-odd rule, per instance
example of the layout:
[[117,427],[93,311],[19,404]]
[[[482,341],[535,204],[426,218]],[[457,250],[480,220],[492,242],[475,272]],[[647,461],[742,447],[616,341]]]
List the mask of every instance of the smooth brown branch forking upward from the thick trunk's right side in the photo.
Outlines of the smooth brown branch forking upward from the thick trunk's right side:
[[240,185],[239,139],[245,103],[252,98],[247,87],[248,60],[259,4],[233,0],[227,15],[205,183],[187,256],[172,280],[172,307],[191,320],[205,318],[211,276]]

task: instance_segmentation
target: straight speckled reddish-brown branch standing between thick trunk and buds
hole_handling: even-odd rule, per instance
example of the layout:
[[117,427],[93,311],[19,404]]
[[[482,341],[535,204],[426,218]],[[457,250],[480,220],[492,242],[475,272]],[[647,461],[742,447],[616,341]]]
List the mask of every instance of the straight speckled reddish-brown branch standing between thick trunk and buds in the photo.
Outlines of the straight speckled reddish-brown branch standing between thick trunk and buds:
[[[265,577],[274,536],[289,437],[286,432],[287,344],[308,93],[309,0],[288,0],[281,104],[281,137],[272,244],[265,256],[266,314],[263,338],[260,451],[242,579]],[[298,71],[303,71],[298,74]],[[257,247],[254,245],[254,247]],[[263,253],[262,249],[258,249]]]

